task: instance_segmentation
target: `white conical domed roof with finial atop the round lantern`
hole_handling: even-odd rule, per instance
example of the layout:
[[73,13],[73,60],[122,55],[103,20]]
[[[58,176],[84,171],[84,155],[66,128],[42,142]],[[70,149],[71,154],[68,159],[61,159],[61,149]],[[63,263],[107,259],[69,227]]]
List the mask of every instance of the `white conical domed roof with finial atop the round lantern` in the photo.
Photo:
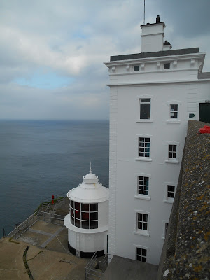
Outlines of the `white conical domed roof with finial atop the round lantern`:
[[98,176],[90,173],[83,176],[83,183],[67,193],[69,200],[83,203],[104,202],[109,200],[109,189],[99,183]]

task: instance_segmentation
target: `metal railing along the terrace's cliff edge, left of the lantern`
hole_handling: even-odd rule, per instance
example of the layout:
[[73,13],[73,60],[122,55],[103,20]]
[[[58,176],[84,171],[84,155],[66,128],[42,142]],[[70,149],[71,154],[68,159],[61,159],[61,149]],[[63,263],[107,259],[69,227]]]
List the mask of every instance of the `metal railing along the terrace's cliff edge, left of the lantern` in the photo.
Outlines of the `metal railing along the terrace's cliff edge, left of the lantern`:
[[47,223],[54,223],[55,225],[64,226],[64,216],[38,210],[29,216],[29,218],[27,218],[25,221],[20,223],[20,225],[18,225],[14,230],[12,230],[8,234],[8,237],[14,237],[15,239],[18,239],[24,232],[28,230],[28,228],[34,225],[36,221],[45,221]]

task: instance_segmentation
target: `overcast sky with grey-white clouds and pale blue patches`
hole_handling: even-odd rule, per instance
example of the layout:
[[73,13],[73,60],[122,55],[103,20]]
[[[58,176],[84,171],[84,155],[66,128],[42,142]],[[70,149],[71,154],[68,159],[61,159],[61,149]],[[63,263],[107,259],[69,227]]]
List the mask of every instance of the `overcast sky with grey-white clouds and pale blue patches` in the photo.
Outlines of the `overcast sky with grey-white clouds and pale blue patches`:
[[[209,0],[146,0],[210,71]],[[110,55],[141,52],[144,0],[0,0],[0,119],[109,119]]]

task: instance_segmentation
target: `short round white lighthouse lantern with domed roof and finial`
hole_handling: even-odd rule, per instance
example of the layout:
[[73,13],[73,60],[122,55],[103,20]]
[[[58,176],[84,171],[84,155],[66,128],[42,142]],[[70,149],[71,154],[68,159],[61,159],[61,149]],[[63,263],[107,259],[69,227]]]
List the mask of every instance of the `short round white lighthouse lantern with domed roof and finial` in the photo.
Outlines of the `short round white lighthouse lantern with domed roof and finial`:
[[83,183],[69,190],[70,214],[64,218],[68,228],[69,251],[82,258],[91,258],[94,252],[107,251],[109,230],[109,189],[99,183],[98,176],[83,176]]

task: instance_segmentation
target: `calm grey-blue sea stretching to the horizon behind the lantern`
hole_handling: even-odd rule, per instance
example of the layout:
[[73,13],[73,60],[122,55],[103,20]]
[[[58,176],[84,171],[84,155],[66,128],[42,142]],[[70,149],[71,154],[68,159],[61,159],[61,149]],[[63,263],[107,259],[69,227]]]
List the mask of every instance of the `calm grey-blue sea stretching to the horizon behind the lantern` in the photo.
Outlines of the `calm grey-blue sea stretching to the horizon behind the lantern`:
[[89,173],[109,188],[109,120],[0,120],[0,237]]

